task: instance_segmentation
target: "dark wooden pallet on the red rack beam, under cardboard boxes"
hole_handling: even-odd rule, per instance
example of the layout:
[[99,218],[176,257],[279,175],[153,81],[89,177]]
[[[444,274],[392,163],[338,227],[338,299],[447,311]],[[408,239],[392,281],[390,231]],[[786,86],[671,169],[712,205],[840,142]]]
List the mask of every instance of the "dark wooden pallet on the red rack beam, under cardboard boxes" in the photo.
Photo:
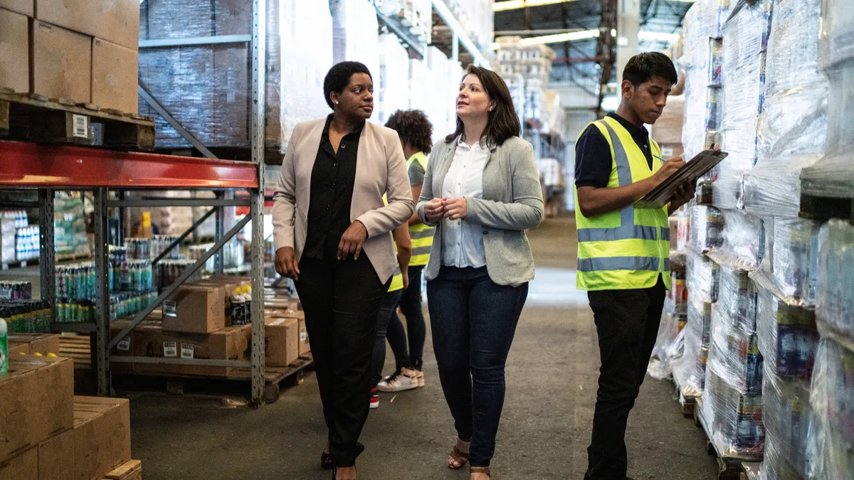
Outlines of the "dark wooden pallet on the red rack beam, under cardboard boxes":
[[151,151],[155,122],[91,103],[0,88],[0,138]]

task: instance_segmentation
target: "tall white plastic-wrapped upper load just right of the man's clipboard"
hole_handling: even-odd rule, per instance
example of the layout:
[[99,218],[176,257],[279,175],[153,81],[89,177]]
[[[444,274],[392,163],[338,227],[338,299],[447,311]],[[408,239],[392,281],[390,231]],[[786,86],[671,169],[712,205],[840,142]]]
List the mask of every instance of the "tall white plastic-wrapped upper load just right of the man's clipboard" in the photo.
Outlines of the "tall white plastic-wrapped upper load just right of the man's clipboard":
[[722,149],[713,184],[718,208],[740,206],[741,174],[757,158],[757,115],[763,111],[771,0],[740,0],[723,25]]

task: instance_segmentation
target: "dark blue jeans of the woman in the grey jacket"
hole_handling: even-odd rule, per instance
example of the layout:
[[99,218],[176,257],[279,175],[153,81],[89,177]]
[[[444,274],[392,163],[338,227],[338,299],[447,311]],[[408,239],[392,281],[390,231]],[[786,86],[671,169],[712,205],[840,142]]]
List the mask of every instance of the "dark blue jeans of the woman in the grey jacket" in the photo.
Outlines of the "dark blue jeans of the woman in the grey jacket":
[[504,372],[528,284],[495,284],[486,267],[442,266],[427,283],[433,348],[454,427],[471,465],[488,466],[504,407]]

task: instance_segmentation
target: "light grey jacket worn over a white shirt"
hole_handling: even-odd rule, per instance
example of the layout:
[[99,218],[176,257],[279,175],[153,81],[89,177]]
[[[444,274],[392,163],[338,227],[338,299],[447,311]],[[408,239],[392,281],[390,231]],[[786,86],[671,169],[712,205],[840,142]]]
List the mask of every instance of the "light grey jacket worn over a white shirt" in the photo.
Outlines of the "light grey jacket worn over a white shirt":
[[[457,142],[439,141],[430,152],[424,186],[418,199],[418,218],[436,226],[436,241],[424,278],[432,280],[442,268],[442,222],[424,217],[424,205],[442,195]],[[542,187],[534,149],[522,138],[508,138],[494,147],[483,168],[483,199],[466,197],[465,220],[483,226],[483,249],[489,278],[500,285],[518,286],[534,279],[534,255],[525,230],[540,225]]]

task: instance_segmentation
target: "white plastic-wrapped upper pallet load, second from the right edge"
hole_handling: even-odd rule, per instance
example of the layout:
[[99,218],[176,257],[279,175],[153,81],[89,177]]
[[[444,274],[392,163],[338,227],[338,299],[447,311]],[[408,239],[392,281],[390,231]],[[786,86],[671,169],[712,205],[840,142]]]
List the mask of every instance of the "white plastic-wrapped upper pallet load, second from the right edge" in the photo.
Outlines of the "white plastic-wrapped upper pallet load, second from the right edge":
[[818,69],[820,23],[820,0],[775,2],[759,154],[744,174],[743,202],[751,214],[797,217],[801,169],[824,155],[829,87]]

